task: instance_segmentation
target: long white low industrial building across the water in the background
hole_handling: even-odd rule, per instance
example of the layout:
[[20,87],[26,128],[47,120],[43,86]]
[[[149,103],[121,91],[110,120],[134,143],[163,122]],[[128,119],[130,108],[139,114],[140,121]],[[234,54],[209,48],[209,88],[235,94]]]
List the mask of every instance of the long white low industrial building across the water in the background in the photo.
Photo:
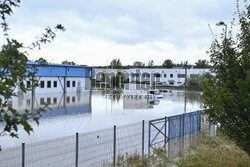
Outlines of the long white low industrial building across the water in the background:
[[[149,85],[180,86],[185,82],[185,69],[183,68],[134,68],[134,69],[93,69],[93,79],[102,81],[102,74],[107,74],[107,78],[115,76],[118,72],[124,75],[126,82],[140,82]],[[187,78],[197,77],[204,73],[211,73],[210,69],[187,69]],[[106,79],[108,82],[108,79]]]

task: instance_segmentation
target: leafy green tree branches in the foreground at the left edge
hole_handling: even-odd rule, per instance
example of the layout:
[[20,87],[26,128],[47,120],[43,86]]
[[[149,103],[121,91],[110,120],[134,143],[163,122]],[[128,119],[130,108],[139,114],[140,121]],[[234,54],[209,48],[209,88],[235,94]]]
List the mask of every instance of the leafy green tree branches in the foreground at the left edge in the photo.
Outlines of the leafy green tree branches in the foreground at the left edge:
[[57,25],[54,29],[46,28],[45,33],[29,46],[24,46],[15,39],[11,39],[8,33],[9,27],[6,17],[10,16],[13,8],[19,7],[20,0],[4,0],[0,1],[0,17],[1,27],[3,29],[5,44],[0,50],[0,124],[1,135],[10,135],[18,137],[18,127],[21,126],[30,134],[33,130],[29,120],[34,120],[37,124],[41,116],[41,108],[37,111],[18,112],[15,110],[9,101],[13,96],[16,96],[14,88],[20,86],[22,92],[27,92],[23,84],[27,78],[32,81],[32,87],[37,86],[35,79],[36,69],[27,64],[28,50],[41,47],[42,44],[51,42],[57,30],[64,30],[62,25]]

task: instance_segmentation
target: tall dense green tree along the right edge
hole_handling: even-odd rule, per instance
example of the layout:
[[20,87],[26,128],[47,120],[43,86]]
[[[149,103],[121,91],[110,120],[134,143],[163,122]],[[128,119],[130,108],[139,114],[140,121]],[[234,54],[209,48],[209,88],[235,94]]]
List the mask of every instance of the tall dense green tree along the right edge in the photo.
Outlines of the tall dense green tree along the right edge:
[[245,4],[240,11],[237,1],[239,19],[232,22],[236,34],[232,28],[229,35],[223,31],[222,41],[215,39],[211,44],[208,53],[215,76],[204,80],[203,98],[206,113],[250,154],[250,6]]

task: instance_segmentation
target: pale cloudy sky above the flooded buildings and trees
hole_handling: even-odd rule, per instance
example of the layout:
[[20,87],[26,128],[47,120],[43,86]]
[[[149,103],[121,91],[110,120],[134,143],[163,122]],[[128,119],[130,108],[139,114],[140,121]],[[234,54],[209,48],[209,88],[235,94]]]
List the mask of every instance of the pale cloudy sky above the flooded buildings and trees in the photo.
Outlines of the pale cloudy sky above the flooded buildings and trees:
[[[119,58],[122,65],[165,59],[174,63],[209,60],[213,36],[222,32],[215,24],[229,24],[235,0],[23,0],[9,23],[11,38],[25,46],[42,35],[47,26],[62,24],[65,32],[28,58],[64,60],[76,64],[108,65]],[[0,32],[0,44],[4,43]]]

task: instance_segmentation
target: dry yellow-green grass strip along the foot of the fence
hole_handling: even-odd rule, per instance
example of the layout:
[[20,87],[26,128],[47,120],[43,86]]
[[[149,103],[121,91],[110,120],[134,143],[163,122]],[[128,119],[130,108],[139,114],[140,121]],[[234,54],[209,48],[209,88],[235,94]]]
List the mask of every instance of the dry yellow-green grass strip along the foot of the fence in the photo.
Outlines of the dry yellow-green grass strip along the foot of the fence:
[[174,159],[170,160],[164,150],[155,149],[152,156],[145,158],[138,153],[120,155],[116,166],[250,167],[250,157],[220,132],[213,137],[201,133],[196,145]]

